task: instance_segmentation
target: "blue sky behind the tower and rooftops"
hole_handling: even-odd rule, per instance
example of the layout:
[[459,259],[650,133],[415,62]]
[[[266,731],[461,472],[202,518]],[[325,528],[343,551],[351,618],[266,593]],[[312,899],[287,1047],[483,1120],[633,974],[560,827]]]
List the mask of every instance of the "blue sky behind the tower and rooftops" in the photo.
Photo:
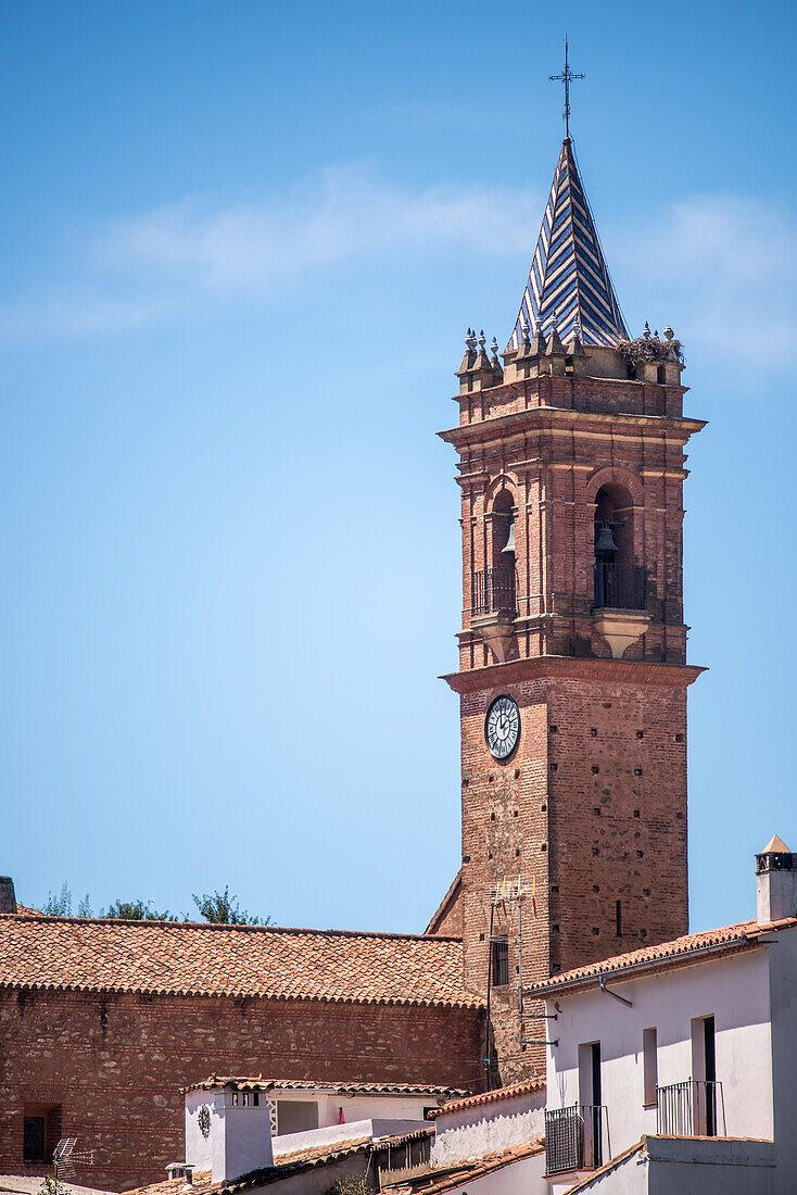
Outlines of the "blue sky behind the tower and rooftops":
[[[694,929],[797,850],[789,4],[568,6],[626,320],[686,347]],[[553,6],[0,6],[0,871],[422,930],[459,845],[450,449],[563,135]]]

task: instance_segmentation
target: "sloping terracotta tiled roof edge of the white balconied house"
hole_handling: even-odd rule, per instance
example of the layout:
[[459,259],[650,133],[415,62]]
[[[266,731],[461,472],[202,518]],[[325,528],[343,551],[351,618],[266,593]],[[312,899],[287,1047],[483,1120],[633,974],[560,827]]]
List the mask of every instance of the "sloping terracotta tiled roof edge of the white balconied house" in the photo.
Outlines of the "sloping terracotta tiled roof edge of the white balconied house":
[[655,946],[643,946],[626,955],[613,955],[589,967],[576,967],[547,980],[532,983],[529,992],[535,995],[548,995],[565,987],[594,985],[601,975],[617,975],[618,972],[679,967],[695,962],[699,952],[734,954],[755,946],[758,939],[773,930],[785,930],[797,925],[797,918],[790,917],[772,924],[760,925],[758,921],[740,921],[737,925],[724,925],[719,930],[704,930],[703,933],[686,933],[672,942],[662,942]]

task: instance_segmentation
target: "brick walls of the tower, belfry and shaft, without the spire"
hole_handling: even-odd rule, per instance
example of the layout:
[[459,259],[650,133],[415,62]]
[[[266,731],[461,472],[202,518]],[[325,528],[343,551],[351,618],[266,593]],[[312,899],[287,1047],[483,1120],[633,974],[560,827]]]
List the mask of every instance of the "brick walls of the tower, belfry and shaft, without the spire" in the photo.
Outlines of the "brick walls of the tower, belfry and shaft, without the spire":
[[[700,424],[683,418],[681,386],[623,374],[541,376],[462,393],[460,427],[443,434],[459,453],[462,497],[460,673],[450,680],[461,694],[462,938],[474,991],[486,991],[491,893],[514,880],[527,894],[520,937],[517,902],[496,911],[493,933],[509,938],[509,985],[491,992],[493,1081],[544,1066],[537,1043],[546,1023],[534,1016],[541,1007],[525,1001],[521,1031],[521,980],[687,930],[693,674],[680,668],[682,489],[685,448]],[[595,500],[607,484],[623,503],[624,559],[646,578],[650,618],[624,655],[621,680],[590,667],[611,657],[593,621]],[[496,618],[473,611],[472,575],[501,563],[507,525],[493,511],[507,509],[507,495],[516,613],[509,626],[504,617],[493,651]],[[570,657],[570,675],[553,667],[546,674],[545,657]],[[491,680],[502,661],[511,682]],[[661,684],[657,664],[675,666]],[[517,701],[522,721],[503,764],[484,742],[486,710],[501,693]]]

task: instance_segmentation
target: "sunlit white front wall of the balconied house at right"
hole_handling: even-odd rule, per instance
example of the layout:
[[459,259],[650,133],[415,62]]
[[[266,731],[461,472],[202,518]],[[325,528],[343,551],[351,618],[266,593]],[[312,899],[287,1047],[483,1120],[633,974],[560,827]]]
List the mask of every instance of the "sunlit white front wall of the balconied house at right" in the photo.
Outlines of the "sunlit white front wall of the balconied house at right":
[[[783,952],[781,946],[771,949]],[[791,974],[797,973],[792,969]],[[547,1048],[548,1108],[590,1102],[580,1097],[578,1046],[600,1041],[602,1102],[608,1108],[605,1158],[620,1153],[643,1133],[655,1134],[656,1109],[643,1107],[643,1030],[654,1027],[657,1030],[658,1084],[666,1086],[693,1077],[692,1021],[713,1015],[727,1134],[772,1138],[766,948],[736,957],[703,960],[660,975],[609,981],[608,986],[633,1006],[627,1007],[600,991],[563,993],[557,998],[562,1012],[558,1021],[548,1022],[551,1036],[559,1041],[558,1047]],[[553,1001],[548,1001],[547,1011],[556,1011]],[[792,1058],[792,1076],[796,1061]],[[792,1101],[797,1103],[797,1096]],[[722,1132],[722,1107],[718,1121]]]

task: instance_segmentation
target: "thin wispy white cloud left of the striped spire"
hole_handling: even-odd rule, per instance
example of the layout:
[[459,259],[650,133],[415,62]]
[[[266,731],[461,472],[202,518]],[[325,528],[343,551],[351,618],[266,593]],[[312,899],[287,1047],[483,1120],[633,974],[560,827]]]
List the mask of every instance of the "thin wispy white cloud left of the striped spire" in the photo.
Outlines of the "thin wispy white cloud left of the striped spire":
[[361,170],[330,170],[270,203],[208,210],[186,202],[109,229],[99,264],[172,274],[210,289],[268,293],[308,270],[367,255],[526,252],[537,196],[499,188],[411,191]]

